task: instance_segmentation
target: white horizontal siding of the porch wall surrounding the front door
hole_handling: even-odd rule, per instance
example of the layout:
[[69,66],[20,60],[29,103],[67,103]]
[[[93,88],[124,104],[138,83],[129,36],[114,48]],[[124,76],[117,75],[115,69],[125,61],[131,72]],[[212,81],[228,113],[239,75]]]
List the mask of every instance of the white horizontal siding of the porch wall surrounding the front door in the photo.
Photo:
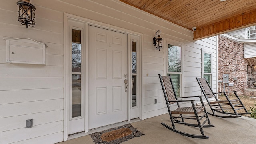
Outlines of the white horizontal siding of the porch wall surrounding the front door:
[[[64,140],[64,12],[142,34],[142,115],[167,112],[158,74],[166,75],[165,48],[155,49],[161,37],[184,44],[182,96],[200,95],[196,76],[202,76],[202,48],[213,53],[213,87],[216,90],[216,37],[194,41],[193,32],[128,6],[118,0],[33,0],[36,25],[17,21],[16,0],[0,5],[0,143],[56,143]],[[157,23],[156,23],[157,21]],[[46,65],[6,63],[4,38],[31,38],[48,45]],[[158,103],[154,104],[154,99]],[[171,106],[175,108],[175,106]],[[25,129],[25,120],[34,126]],[[40,119],[40,120],[39,120]],[[8,123],[11,122],[11,123]]]

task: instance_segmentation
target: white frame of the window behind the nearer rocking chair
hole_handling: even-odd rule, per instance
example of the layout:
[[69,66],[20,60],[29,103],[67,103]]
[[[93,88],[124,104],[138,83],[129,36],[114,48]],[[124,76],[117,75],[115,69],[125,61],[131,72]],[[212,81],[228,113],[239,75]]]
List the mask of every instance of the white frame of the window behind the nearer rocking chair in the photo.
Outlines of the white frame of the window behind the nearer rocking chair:
[[[181,72],[169,72],[168,70],[168,47],[169,44],[174,45],[174,46],[180,46],[181,47]],[[179,42],[176,40],[172,40],[169,38],[164,38],[164,75],[167,76],[167,74],[180,74],[180,97],[184,95],[183,92],[183,68],[184,67],[184,43]]]

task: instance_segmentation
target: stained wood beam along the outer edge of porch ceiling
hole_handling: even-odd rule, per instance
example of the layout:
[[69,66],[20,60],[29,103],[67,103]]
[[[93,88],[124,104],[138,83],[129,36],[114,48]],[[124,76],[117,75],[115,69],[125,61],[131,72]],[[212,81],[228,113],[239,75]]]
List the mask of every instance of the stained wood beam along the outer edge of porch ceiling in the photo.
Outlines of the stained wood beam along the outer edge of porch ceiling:
[[201,40],[218,34],[223,34],[232,30],[246,28],[256,24],[256,10],[246,12],[220,22],[215,22],[208,26],[197,28],[194,31],[194,40]]

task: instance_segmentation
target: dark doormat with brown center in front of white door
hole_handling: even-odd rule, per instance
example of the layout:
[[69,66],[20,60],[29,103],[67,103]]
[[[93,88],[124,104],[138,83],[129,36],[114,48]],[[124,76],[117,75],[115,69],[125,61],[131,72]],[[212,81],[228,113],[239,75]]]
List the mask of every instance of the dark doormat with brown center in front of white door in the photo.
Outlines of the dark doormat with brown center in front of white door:
[[131,124],[90,134],[95,144],[120,144],[121,142],[142,135],[144,134],[134,128]]

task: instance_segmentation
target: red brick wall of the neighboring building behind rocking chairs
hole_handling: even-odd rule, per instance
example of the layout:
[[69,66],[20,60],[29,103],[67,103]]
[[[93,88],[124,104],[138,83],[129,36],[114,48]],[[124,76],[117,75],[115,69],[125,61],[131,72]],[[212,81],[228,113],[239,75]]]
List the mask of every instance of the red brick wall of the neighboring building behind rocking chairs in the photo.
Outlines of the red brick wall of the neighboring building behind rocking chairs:
[[[236,90],[240,96],[247,95],[245,89],[251,86],[248,78],[255,78],[255,65],[255,59],[244,58],[243,43],[218,36],[218,80],[223,80],[223,74],[229,74],[229,82],[234,83],[229,91]],[[234,77],[237,80],[233,80]],[[223,84],[218,83],[218,91],[223,91]],[[228,84],[225,91],[228,91]]]

